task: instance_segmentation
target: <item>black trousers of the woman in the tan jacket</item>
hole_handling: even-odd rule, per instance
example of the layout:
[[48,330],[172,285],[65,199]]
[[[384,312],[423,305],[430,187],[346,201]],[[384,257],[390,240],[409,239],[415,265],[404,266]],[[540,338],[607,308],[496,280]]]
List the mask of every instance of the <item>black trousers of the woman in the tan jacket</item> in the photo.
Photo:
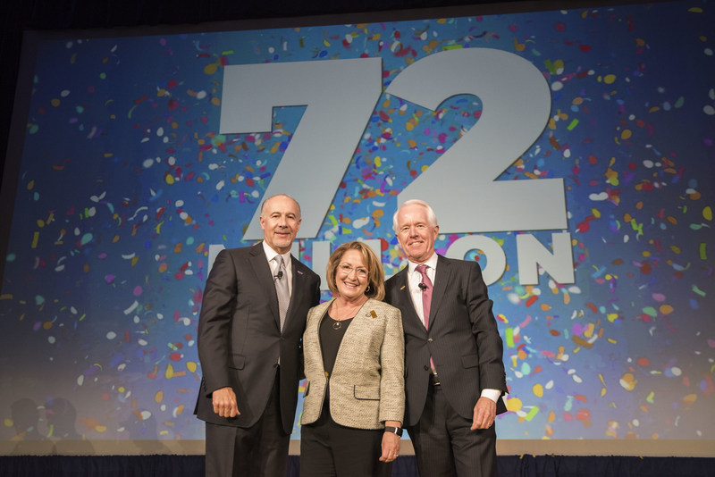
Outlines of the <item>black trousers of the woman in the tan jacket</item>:
[[384,431],[341,426],[328,407],[315,423],[300,428],[300,476],[389,477],[392,463],[378,460]]

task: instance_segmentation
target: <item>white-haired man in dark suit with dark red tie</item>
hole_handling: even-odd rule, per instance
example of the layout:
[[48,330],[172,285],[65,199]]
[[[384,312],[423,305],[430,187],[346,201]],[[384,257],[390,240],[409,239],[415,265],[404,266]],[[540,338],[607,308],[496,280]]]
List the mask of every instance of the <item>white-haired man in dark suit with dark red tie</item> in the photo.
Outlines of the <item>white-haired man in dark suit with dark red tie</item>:
[[405,424],[419,473],[495,476],[507,383],[482,271],[434,252],[440,228],[423,201],[405,202],[393,227],[409,263],[385,283],[385,301],[402,312]]

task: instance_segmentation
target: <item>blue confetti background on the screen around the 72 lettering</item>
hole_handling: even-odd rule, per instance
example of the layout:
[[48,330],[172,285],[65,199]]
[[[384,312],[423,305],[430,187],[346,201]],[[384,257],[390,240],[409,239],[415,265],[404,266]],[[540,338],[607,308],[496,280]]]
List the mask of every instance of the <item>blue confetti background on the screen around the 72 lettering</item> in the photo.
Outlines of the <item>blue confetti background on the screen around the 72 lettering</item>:
[[[391,275],[406,264],[398,195],[489,105],[464,94],[431,110],[386,89],[419,60],[468,48],[542,73],[548,121],[497,183],[563,180],[568,219],[567,230],[436,243],[447,254],[484,235],[505,258],[489,288],[509,385],[500,439],[715,439],[713,24],[715,5],[697,1],[40,39],[0,291],[0,439],[204,439],[193,409],[211,251],[255,243],[245,232],[307,115],[276,105],[270,132],[221,133],[226,67],[382,59],[383,89],[340,182],[313,168],[296,178],[336,189],[299,254],[318,272],[316,243],[378,240]],[[464,173],[483,180],[478,164]],[[519,237],[551,249],[559,232],[573,282],[540,267],[524,284]],[[465,258],[484,268],[495,256]]]

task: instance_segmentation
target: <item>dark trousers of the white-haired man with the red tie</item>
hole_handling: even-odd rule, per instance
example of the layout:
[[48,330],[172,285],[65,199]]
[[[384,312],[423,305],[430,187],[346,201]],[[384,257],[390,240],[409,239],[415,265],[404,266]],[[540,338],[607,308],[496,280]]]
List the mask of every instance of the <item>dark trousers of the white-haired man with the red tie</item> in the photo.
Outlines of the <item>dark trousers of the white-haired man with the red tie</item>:
[[419,422],[408,427],[420,476],[496,477],[494,425],[476,431],[471,431],[471,426],[471,419],[452,409],[442,387],[430,383]]

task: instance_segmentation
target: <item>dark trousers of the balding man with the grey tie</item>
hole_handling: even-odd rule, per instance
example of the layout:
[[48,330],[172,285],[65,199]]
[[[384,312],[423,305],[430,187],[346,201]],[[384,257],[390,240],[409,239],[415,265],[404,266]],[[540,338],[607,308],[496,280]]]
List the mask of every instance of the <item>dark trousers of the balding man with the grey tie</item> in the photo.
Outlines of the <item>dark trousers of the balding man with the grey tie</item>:
[[[264,414],[249,428],[206,423],[206,477],[283,477],[290,434],[281,421],[279,377]],[[240,411],[240,409],[239,409]]]

